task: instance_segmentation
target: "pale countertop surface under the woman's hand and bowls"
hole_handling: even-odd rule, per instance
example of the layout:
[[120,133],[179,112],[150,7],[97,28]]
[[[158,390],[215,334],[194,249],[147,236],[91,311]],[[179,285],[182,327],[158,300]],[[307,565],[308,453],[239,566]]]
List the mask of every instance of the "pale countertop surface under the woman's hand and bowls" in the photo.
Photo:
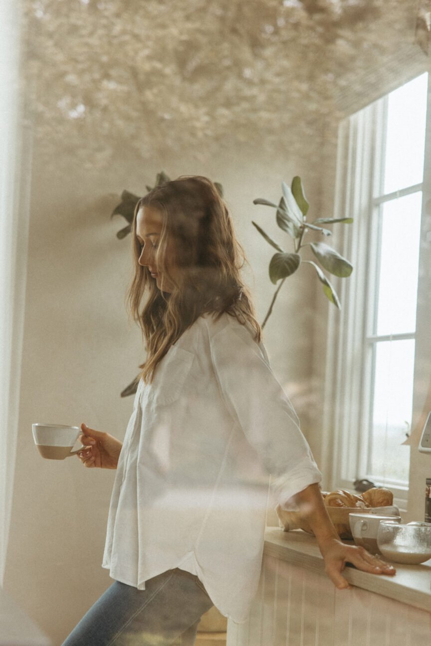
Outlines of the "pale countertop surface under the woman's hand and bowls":
[[[344,542],[353,545],[353,541]],[[302,530],[283,532],[278,527],[268,528],[264,554],[315,572],[324,572],[315,537]],[[421,565],[393,565],[397,570],[395,576],[368,574],[353,567],[344,568],[343,576],[363,590],[431,612],[431,559]]]

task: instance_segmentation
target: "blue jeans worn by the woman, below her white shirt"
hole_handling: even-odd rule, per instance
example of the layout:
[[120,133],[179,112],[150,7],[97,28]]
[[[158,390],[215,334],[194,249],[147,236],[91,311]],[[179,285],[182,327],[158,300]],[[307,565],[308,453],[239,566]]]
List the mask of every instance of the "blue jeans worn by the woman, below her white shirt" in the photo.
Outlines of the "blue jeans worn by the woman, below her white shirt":
[[193,646],[212,605],[197,576],[178,568],[145,581],[145,590],[115,581],[63,646]]

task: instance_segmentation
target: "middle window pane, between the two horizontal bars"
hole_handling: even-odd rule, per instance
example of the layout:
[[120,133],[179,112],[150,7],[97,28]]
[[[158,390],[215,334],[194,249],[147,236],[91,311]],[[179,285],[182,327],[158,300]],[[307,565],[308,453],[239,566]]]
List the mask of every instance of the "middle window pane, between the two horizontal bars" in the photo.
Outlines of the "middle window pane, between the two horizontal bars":
[[421,208],[422,193],[383,205],[378,335],[415,331]]

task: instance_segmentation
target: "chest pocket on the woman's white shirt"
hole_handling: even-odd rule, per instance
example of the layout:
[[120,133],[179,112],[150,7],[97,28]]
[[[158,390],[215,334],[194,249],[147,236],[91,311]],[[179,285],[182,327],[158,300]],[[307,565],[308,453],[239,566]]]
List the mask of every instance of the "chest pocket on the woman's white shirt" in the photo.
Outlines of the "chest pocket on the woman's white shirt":
[[158,406],[173,404],[179,399],[193,363],[193,353],[171,346],[154,373],[148,397]]

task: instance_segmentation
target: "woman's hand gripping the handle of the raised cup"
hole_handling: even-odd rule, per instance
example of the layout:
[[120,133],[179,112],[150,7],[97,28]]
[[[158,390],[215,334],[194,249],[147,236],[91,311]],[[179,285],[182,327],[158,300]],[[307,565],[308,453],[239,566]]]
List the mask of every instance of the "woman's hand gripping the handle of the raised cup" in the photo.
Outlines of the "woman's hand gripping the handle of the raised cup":
[[97,466],[101,469],[116,469],[123,444],[109,433],[102,433],[81,424],[82,435],[79,441],[86,449],[79,451],[78,458],[84,466]]

